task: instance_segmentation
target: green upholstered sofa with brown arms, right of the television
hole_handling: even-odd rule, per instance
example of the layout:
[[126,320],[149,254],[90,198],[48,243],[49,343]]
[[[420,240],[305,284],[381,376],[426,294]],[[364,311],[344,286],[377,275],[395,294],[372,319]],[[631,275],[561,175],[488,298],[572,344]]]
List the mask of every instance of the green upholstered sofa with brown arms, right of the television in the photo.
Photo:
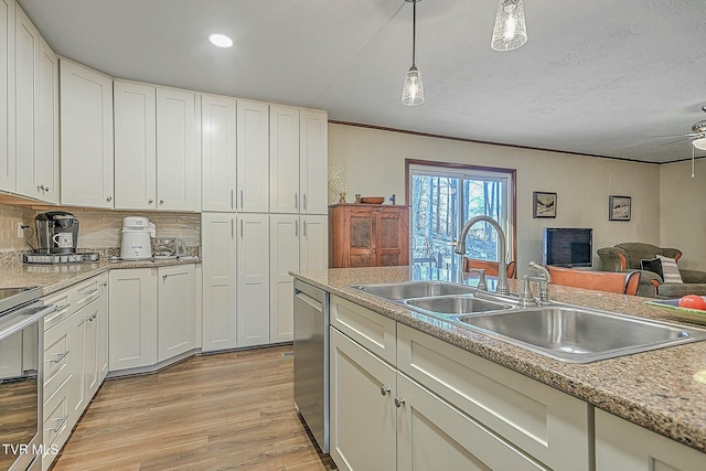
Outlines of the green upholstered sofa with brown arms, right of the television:
[[638,296],[648,298],[681,298],[684,295],[706,295],[706,271],[680,268],[684,282],[664,282],[654,271],[642,270],[641,261],[657,255],[678,261],[682,251],[677,248],[657,247],[652,244],[629,242],[598,249],[603,271],[641,270]]

